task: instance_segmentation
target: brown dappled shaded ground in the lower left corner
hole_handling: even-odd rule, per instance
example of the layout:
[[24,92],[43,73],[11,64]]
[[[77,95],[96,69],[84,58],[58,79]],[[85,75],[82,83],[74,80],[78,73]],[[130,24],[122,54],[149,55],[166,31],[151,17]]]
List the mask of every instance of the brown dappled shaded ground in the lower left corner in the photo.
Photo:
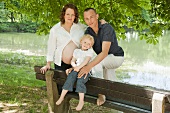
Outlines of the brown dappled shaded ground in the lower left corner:
[[39,88],[0,85],[1,113],[47,113],[46,92]]

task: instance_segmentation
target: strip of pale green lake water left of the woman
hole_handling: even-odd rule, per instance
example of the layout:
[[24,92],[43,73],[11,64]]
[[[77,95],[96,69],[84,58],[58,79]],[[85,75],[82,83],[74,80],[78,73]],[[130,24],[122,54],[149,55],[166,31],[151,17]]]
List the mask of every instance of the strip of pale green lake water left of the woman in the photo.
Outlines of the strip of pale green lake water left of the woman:
[[0,50],[26,55],[46,55],[47,39],[48,36],[31,33],[0,33]]

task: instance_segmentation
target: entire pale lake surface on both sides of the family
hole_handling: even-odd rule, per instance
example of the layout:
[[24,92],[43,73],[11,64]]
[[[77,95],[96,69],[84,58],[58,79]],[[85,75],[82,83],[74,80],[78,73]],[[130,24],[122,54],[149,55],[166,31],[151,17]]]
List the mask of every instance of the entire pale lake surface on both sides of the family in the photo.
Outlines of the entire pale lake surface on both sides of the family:
[[[135,32],[126,36],[126,40],[119,40],[125,61],[116,70],[117,81],[170,91],[170,32],[164,32],[157,45],[139,40]],[[0,33],[0,51],[46,55],[47,40],[48,35]]]

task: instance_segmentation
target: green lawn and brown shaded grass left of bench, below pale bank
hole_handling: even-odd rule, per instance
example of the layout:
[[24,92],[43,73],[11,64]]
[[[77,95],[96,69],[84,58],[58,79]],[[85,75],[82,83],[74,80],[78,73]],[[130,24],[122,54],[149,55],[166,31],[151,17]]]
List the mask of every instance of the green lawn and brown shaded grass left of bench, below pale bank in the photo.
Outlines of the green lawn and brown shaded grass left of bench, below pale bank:
[[35,79],[33,69],[21,65],[0,64],[0,111],[47,113],[43,81]]

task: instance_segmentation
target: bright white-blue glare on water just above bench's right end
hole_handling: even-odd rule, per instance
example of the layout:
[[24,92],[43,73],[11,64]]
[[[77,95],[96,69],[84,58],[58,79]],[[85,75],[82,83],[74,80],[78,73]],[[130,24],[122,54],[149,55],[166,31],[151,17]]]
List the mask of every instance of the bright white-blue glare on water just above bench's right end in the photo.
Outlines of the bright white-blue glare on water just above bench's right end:
[[129,78],[123,79],[123,82],[170,91],[170,67],[146,62],[143,66],[136,65],[133,69],[136,72],[127,72]]

